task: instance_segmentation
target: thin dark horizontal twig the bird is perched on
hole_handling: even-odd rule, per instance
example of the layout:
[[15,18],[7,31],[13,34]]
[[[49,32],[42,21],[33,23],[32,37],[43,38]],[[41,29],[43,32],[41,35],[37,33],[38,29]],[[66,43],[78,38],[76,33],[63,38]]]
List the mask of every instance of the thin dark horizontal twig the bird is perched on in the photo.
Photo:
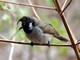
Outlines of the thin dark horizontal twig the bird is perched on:
[[[0,39],[0,42],[14,43],[14,44],[23,44],[23,45],[31,45],[31,43],[16,42],[16,41],[6,41],[4,39]],[[38,44],[38,43],[34,43],[34,45],[37,45],[37,46],[48,46],[48,44]],[[50,46],[71,47],[71,45],[57,45],[57,44],[50,44]]]

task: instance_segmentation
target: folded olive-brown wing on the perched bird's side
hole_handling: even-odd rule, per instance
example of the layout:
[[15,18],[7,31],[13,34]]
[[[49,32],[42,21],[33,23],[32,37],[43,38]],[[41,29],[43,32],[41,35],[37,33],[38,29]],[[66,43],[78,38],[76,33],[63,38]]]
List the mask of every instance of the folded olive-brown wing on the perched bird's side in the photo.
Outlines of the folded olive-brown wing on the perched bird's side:
[[56,29],[49,23],[41,23],[39,27],[43,30],[44,33],[59,35]]

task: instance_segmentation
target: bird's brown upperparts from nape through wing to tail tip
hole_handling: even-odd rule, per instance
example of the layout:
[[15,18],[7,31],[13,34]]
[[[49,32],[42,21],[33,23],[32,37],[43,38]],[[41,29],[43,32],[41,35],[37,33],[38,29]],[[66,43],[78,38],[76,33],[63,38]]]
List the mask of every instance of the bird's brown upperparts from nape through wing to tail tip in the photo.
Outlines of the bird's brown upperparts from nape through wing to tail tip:
[[51,24],[46,23],[44,21],[40,21],[36,18],[34,20],[37,23],[37,25],[42,29],[43,33],[51,34],[53,37],[55,37],[61,41],[64,41],[64,42],[68,41],[68,39],[61,36]]

